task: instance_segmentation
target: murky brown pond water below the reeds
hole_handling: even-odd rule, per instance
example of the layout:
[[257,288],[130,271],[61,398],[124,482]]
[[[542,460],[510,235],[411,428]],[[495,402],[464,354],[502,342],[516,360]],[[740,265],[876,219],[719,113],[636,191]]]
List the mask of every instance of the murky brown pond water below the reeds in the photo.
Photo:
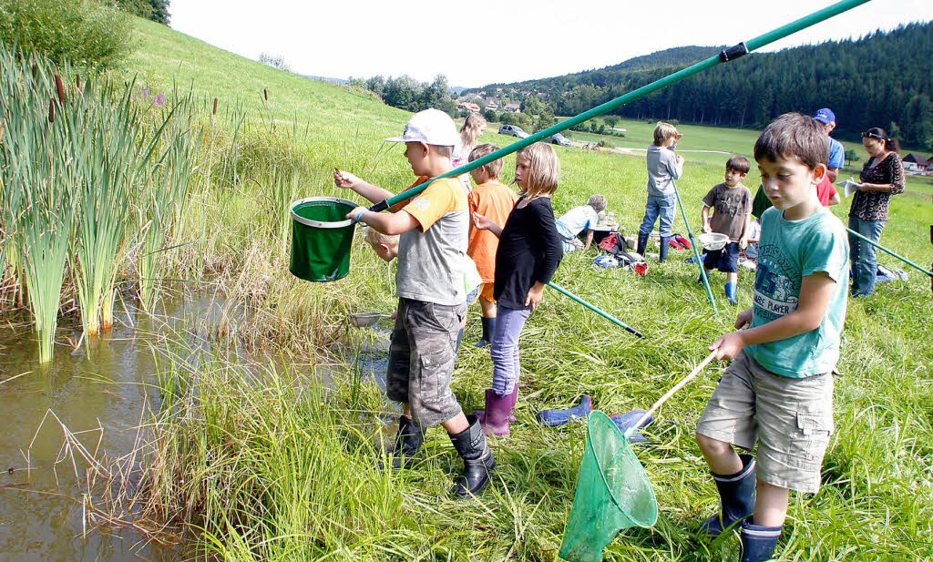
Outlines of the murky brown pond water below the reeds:
[[[140,422],[159,406],[153,347],[159,335],[183,335],[208,349],[211,326],[242,312],[213,298],[166,305],[153,319],[126,310],[115,329],[77,348],[57,346],[52,362],[36,362],[29,327],[0,329],[0,560],[49,562],[181,560],[129,528],[86,527],[82,495],[94,459],[132,451]],[[60,341],[79,341],[79,326],[60,327]],[[364,377],[384,388],[387,336],[373,332],[358,356]],[[384,340],[384,341],[383,341]],[[346,356],[346,355],[344,355]],[[345,366],[338,366],[345,373]],[[327,369],[321,369],[327,378]],[[335,371],[336,372],[336,371]],[[67,435],[70,432],[71,435]],[[74,463],[73,463],[74,459]]]

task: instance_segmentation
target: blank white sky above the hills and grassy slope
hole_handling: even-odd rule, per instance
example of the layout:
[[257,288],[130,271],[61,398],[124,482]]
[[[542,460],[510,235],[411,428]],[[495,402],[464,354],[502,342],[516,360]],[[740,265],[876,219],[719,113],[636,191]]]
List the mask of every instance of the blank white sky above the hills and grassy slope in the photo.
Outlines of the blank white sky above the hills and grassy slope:
[[[402,75],[452,86],[563,75],[684,45],[733,45],[829,0],[171,0],[172,27],[294,72]],[[775,9],[780,7],[780,9]],[[933,20],[933,0],[872,0],[763,50]],[[712,53],[711,53],[712,54]],[[905,58],[910,53],[904,53]]]

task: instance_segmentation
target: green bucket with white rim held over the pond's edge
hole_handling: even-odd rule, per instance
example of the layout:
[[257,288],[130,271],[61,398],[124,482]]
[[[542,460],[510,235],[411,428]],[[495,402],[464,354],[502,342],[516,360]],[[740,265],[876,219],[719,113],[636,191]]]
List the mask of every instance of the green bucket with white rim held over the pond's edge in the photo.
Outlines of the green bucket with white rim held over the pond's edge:
[[353,201],[311,197],[292,203],[292,252],[288,270],[305,281],[337,281],[350,273],[355,222]]

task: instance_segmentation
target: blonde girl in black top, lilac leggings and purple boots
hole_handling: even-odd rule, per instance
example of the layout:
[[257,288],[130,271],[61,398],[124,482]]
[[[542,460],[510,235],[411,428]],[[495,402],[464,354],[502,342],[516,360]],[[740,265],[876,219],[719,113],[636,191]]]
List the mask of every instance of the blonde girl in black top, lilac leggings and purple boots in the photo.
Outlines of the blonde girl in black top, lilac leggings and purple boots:
[[498,319],[492,343],[493,388],[486,391],[486,408],[479,413],[486,434],[509,433],[521,372],[519,336],[564,256],[550,206],[560,174],[561,163],[554,149],[548,144],[532,144],[518,153],[515,162],[515,181],[523,193],[506,225],[500,228],[473,213],[477,228],[499,237],[493,294]]

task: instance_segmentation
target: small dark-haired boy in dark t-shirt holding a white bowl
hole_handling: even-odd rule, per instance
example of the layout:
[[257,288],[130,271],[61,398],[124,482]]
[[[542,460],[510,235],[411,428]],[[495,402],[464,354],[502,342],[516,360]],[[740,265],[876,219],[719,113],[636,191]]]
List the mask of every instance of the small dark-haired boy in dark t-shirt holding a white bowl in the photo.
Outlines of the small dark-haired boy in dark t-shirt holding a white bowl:
[[[706,254],[703,267],[707,272],[717,267],[726,274],[726,297],[731,305],[739,304],[735,295],[739,282],[739,254],[748,245],[752,192],[742,185],[742,180],[750,167],[745,157],[729,158],[726,181],[714,185],[703,198],[703,232],[717,232],[729,237],[724,248]],[[710,209],[713,210],[712,217]],[[699,282],[703,282],[702,276]]]

